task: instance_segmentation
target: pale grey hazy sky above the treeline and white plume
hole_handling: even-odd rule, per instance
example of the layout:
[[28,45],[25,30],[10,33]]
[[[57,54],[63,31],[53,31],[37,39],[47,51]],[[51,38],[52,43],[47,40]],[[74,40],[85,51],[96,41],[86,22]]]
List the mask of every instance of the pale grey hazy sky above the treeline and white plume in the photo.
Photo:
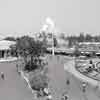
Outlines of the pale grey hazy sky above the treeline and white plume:
[[48,16],[67,34],[100,32],[100,0],[0,0],[0,34],[39,32]]

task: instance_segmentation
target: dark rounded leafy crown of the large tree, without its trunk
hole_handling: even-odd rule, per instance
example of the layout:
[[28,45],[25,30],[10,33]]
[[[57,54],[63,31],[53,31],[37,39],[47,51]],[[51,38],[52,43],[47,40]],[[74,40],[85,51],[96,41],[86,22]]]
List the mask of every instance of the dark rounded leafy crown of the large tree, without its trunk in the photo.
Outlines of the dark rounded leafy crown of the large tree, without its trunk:
[[35,41],[33,38],[24,36],[17,40],[17,51],[21,56],[35,56],[39,57],[45,52],[45,47],[42,42]]

